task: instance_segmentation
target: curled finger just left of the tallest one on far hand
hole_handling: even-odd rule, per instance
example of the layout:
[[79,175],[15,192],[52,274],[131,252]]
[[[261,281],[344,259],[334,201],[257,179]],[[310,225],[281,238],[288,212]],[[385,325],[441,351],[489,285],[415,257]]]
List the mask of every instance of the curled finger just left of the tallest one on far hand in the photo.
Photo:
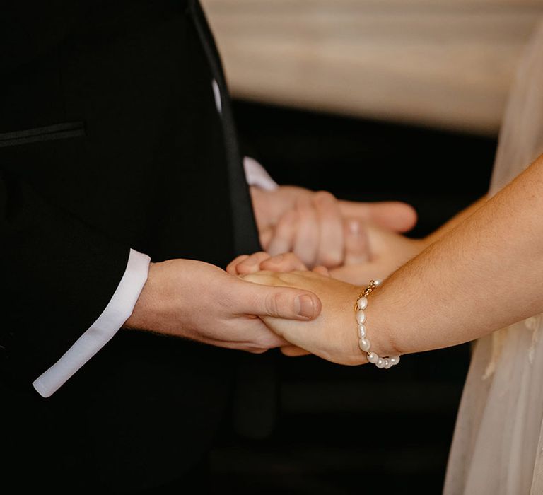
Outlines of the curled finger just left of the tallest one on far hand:
[[317,211],[309,198],[300,199],[296,208],[298,212],[298,228],[292,252],[308,267],[317,261],[319,249],[319,223]]

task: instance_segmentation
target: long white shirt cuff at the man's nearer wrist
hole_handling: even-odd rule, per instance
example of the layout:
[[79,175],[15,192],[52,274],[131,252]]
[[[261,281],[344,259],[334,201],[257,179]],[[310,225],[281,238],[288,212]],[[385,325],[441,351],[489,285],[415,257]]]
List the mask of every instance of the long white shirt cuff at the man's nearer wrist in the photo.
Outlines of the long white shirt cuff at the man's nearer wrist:
[[59,361],[33,382],[35,390],[42,397],[50,397],[59,390],[124,325],[132,315],[141,289],[147,281],[150,262],[151,258],[147,255],[130,250],[127,269],[98,320],[76,340]]

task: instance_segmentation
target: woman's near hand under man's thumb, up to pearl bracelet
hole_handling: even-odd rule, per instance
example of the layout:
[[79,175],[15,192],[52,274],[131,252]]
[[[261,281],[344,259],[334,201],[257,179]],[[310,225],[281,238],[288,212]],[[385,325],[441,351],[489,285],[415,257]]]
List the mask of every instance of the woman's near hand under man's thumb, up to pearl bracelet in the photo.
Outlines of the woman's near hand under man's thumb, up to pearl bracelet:
[[[320,298],[322,311],[312,321],[286,321],[262,317],[271,330],[291,342],[296,349],[305,349],[334,363],[356,365],[366,363],[366,354],[358,347],[354,303],[361,288],[314,272],[272,273],[258,272],[243,276],[246,281],[270,286],[298,287],[311,291]],[[370,310],[370,308],[368,308]],[[371,314],[368,312],[368,320]],[[379,355],[397,354],[387,336],[372,335],[372,349]],[[293,347],[284,348],[285,354],[298,355]],[[294,350],[291,352],[291,350]]]

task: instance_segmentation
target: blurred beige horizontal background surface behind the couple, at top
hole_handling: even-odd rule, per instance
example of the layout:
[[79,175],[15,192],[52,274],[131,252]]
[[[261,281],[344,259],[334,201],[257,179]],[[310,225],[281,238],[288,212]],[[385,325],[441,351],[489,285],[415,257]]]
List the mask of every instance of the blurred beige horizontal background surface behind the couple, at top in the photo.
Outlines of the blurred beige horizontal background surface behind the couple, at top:
[[543,1],[202,0],[245,100],[494,134]]

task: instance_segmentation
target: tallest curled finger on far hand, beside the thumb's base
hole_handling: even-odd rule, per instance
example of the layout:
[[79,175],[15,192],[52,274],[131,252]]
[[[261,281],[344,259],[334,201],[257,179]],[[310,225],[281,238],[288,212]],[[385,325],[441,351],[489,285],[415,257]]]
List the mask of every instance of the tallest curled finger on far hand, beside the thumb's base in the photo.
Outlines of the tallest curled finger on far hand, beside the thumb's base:
[[326,191],[315,192],[313,204],[317,213],[319,245],[316,262],[325,267],[338,267],[343,262],[343,217],[339,202]]

